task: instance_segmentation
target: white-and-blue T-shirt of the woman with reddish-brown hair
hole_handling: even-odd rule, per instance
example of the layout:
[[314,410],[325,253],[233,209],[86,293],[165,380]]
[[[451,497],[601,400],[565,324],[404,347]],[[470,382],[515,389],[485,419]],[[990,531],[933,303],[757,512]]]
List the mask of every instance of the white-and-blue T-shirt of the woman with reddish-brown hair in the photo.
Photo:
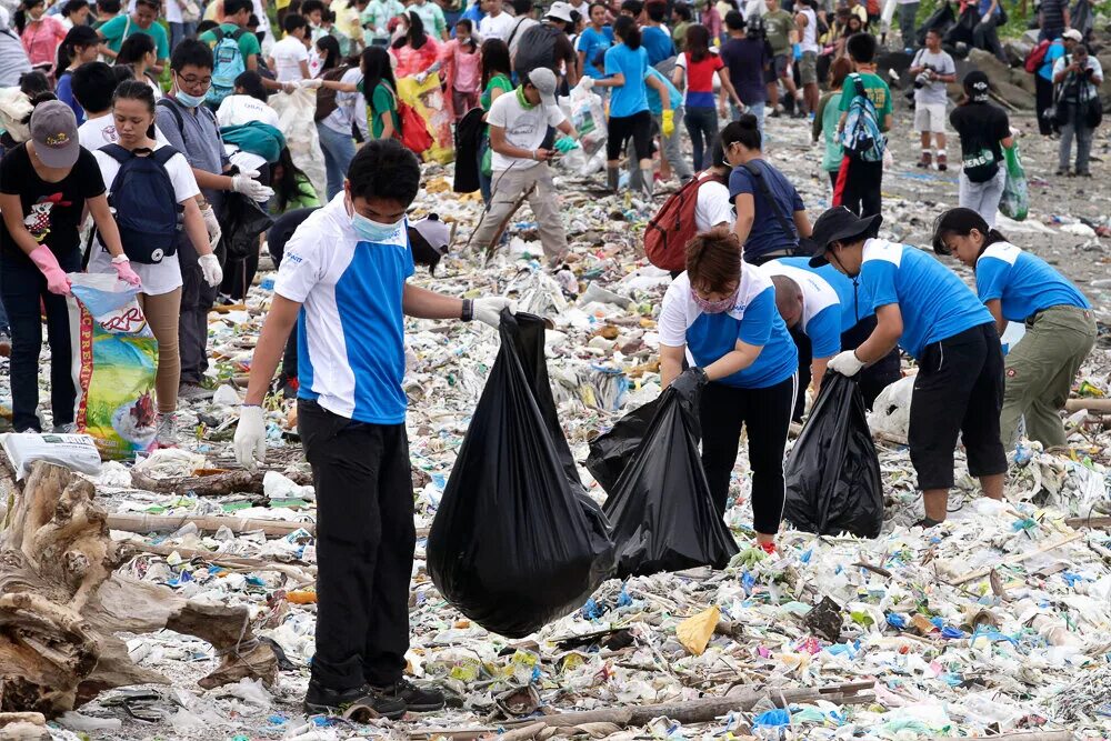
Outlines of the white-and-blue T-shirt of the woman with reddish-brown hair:
[[700,368],[735,350],[738,340],[762,348],[751,366],[714,383],[765,389],[791,378],[799,367],[799,352],[775,308],[775,287],[757,266],[742,266],[737,303],[720,314],[708,314],[699,308],[690,279],[682,273],[663,297],[659,330],[662,344],[685,344]]

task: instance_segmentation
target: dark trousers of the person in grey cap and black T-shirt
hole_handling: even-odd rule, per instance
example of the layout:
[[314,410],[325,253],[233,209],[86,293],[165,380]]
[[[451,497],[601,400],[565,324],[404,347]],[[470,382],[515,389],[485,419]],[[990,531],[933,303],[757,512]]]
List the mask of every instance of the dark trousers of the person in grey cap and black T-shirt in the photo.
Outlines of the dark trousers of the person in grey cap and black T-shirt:
[[[81,271],[81,253],[73,250],[58,259],[66,272]],[[11,411],[16,432],[41,432],[39,409],[39,352],[42,350],[42,312],[47,312],[50,342],[50,410],[53,423],[73,421],[77,389],[70,367],[69,307],[64,296],[47,290],[47,279],[30,259],[0,258],[0,297],[11,329]]]

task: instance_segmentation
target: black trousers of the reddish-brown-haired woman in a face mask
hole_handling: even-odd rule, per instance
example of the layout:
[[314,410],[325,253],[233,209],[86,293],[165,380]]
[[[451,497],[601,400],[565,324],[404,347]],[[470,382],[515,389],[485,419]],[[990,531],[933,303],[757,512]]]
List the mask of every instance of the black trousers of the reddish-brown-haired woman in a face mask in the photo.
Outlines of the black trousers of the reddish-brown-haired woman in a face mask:
[[752,527],[765,535],[779,530],[783,517],[783,449],[791,429],[791,412],[799,379],[792,375],[764,389],[738,389],[709,383],[702,389],[699,420],[702,425],[702,468],[710,498],[725,513],[729,477],[737,464],[741,427],[749,431],[752,468]]

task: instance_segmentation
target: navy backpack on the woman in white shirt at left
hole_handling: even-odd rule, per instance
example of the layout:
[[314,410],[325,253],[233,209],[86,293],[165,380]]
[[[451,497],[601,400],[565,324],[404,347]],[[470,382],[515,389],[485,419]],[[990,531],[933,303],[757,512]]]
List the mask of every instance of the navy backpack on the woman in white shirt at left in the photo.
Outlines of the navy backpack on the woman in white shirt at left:
[[166,163],[178,150],[160,147],[139,157],[119,144],[106,144],[100,151],[120,163],[108,203],[123,253],[132,262],[157,264],[177,252],[184,208],[178,203]]

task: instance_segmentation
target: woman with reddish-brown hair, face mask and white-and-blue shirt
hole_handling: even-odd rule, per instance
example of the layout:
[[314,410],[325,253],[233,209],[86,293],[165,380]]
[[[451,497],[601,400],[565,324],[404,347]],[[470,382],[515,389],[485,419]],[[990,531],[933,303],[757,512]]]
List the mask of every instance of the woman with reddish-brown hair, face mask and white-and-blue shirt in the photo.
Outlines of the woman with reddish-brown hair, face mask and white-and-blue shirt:
[[[757,542],[772,552],[799,359],[771,278],[741,262],[728,227],[699,234],[687,246],[687,272],[663,297],[659,328],[663,387],[702,389],[702,467],[718,512],[725,511],[741,428],[748,428],[752,524]],[[691,364],[685,372],[684,359]]]

